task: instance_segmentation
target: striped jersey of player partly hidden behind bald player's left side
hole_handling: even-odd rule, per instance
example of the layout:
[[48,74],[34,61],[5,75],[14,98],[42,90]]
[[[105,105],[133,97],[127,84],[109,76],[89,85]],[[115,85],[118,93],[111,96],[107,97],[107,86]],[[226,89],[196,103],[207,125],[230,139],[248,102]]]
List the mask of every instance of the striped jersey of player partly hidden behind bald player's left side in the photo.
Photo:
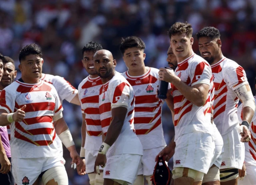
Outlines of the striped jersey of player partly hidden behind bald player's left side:
[[102,144],[102,128],[100,124],[99,94],[102,81],[100,77],[86,77],[78,86],[78,96],[82,114],[85,114],[86,150],[98,150]]

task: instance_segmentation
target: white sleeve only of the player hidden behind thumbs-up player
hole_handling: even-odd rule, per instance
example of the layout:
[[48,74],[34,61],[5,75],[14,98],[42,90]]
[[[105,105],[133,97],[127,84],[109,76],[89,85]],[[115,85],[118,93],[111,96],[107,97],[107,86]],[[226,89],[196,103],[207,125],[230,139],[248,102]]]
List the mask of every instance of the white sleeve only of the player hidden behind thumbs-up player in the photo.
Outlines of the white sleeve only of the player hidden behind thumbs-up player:
[[52,85],[54,85],[54,87],[56,88],[61,100],[65,99],[68,102],[71,102],[71,100],[78,93],[78,90],[76,90],[76,88],[74,88],[68,81],[60,76],[53,77]]

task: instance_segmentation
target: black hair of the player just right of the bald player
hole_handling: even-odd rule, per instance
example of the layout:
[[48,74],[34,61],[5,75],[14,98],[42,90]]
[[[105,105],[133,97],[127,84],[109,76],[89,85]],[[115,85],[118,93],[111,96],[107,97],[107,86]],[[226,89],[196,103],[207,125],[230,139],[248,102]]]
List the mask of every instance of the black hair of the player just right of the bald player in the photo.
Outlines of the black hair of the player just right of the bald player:
[[124,54],[125,50],[131,47],[137,47],[140,50],[143,50],[146,48],[145,43],[143,40],[139,37],[131,36],[121,39],[121,45],[119,47],[122,54]]

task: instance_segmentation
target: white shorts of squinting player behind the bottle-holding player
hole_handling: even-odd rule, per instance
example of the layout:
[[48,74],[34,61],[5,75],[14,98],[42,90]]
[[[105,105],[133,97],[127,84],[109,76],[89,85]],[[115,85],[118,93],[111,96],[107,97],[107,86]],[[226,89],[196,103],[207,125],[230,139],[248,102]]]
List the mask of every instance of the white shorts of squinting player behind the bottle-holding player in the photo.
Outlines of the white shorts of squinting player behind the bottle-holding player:
[[240,142],[241,136],[238,133],[239,125],[222,136],[223,149],[222,163],[220,169],[238,168],[242,169],[244,163],[244,143]]

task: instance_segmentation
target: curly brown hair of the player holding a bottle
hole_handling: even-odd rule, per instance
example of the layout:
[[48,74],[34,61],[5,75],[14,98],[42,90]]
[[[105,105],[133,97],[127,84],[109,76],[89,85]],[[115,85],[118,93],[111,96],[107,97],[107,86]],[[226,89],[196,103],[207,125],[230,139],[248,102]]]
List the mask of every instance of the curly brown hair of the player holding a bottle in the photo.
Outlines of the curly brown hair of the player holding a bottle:
[[186,33],[187,36],[192,37],[192,25],[187,22],[176,22],[171,26],[171,28],[168,31],[168,35],[170,38],[172,37],[172,35],[180,35],[182,33]]

